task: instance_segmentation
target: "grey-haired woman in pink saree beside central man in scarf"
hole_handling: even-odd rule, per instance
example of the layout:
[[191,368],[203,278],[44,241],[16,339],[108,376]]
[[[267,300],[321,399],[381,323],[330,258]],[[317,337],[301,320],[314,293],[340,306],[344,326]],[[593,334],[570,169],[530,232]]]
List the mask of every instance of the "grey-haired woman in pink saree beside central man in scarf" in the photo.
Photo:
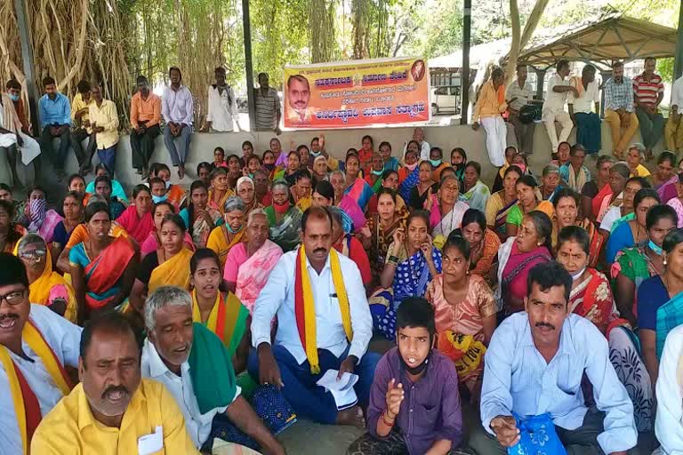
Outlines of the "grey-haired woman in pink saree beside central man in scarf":
[[282,248],[269,240],[266,212],[254,209],[246,220],[246,241],[237,243],[228,253],[223,279],[249,312],[268,282],[270,271],[282,256]]

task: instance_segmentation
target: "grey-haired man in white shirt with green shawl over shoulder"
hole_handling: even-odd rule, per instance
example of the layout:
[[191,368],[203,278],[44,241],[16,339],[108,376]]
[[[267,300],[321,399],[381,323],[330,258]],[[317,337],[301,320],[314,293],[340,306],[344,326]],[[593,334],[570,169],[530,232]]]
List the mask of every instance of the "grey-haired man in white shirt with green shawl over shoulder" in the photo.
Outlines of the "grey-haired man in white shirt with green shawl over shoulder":
[[[253,449],[258,449],[258,444],[267,454],[285,454],[282,445],[240,395],[241,388],[236,384],[235,372],[221,339],[201,323],[192,323],[192,298],[188,291],[174,286],[158,288],[145,302],[144,316],[148,339],[142,347],[142,376],[161,382],[171,392],[197,449],[211,451],[213,437],[210,435],[237,434],[236,441],[229,441],[227,436],[221,439],[250,445]],[[191,371],[190,365],[199,369],[197,365],[201,363],[195,363],[190,353],[210,358],[213,368]],[[220,363],[226,359],[227,362]],[[193,387],[193,380],[198,377],[219,385],[221,393],[207,393],[201,381]],[[210,409],[200,410],[196,389],[205,390],[211,398],[201,402],[210,401]]]

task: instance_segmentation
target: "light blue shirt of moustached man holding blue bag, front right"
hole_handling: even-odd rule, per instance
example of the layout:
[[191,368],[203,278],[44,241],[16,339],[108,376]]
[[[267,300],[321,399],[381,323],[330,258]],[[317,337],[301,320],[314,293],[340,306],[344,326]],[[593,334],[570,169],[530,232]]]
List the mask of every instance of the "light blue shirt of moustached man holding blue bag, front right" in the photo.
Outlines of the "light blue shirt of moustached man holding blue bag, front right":
[[588,319],[569,315],[562,325],[557,354],[546,363],[534,346],[526,312],[510,315],[494,331],[486,351],[481,390],[481,423],[491,435],[494,417],[550,412],[556,426],[583,425],[581,379],[585,371],[605,431],[598,443],[605,453],[627,451],[638,442],[633,403],[609,361],[607,339]]

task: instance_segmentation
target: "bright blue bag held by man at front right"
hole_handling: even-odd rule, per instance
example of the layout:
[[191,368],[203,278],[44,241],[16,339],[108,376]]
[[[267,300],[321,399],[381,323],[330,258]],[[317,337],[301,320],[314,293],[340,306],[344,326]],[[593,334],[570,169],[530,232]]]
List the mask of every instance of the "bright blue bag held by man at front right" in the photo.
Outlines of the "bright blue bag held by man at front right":
[[549,413],[525,418],[512,415],[519,428],[519,442],[508,447],[508,455],[566,455]]

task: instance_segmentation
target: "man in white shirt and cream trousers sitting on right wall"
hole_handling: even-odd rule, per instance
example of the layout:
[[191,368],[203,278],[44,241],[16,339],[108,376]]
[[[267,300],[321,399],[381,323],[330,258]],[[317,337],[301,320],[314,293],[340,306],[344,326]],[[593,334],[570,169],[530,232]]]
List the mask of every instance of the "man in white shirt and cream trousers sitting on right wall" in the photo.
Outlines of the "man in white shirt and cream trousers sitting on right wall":
[[[548,81],[548,92],[545,94],[541,117],[550,138],[551,153],[557,153],[559,143],[569,139],[574,127],[572,117],[565,112],[566,95],[572,92],[579,96],[579,92],[566,80],[566,76],[569,76],[569,62],[559,60],[557,68],[558,72]],[[562,126],[559,135],[555,129],[555,122]]]

